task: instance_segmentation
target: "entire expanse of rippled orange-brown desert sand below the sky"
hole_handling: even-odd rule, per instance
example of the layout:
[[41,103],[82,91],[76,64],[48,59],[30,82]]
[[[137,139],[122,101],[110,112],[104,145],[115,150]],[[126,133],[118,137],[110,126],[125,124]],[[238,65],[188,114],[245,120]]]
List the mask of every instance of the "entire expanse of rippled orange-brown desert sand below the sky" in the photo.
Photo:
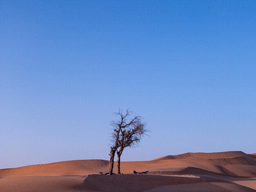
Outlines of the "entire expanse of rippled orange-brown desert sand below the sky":
[[[108,163],[99,159],[76,160],[1,169],[0,192],[256,191],[256,154],[241,151],[121,162],[124,174],[99,174],[108,172]],[[132,174],[133,170],[148,170],[148,174]]]

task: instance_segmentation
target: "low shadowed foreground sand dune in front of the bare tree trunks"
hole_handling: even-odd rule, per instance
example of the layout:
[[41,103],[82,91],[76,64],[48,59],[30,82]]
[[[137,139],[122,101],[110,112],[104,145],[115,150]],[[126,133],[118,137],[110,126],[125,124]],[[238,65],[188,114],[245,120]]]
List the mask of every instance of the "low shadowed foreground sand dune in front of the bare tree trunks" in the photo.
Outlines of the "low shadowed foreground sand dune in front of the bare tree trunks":
[[237,183],[219,179],[201,179],[157,175],[30,176],[0,180],[1,192],[84,192],[84,191],[213,191],[254,192]]

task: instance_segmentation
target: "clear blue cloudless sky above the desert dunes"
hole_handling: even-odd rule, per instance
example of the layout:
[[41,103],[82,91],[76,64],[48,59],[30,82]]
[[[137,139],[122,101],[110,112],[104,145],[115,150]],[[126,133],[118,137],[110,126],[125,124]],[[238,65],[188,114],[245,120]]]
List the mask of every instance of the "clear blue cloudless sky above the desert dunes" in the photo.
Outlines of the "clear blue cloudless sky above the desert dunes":
[[0,168],[109,159],[130,107],[152,130],[124,161],[256,152],[255,1],[0,0]]

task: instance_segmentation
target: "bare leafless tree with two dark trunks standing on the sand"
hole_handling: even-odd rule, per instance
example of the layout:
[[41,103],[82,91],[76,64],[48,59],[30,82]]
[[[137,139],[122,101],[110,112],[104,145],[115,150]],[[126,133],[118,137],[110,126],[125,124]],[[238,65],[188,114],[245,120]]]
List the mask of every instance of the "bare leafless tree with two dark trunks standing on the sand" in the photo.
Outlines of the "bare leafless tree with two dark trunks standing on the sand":
[[111,125],[114,127],[112,133],[112,142],[114,143],[110,147],[110,170],[109,174],[113,172],[115,152],[117,152],[117,174],[120,172],[120,158],[126,147],[135,147],[141,141],[141,138],[146,135],[148,129],[146,129],[146,123],[142,122],[141,116],[134,116],[129,118],[132,114],[130,109],[126,109],[126,113],[123,113],[119,109],[119,112],[115,113],[119,116],[118,121],[112,121]]

